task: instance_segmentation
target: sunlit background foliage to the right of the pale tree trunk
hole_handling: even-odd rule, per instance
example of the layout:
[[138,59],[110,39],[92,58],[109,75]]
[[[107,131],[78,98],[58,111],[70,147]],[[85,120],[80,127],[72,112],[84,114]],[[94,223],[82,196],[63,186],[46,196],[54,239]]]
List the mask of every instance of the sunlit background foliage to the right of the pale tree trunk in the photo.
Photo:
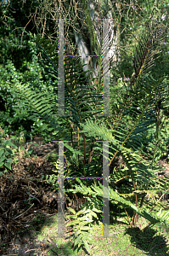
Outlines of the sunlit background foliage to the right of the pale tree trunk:
[[[163,27],[163,40],[161,40],[159,46],[160,51],[158,53],[158,57],[153,57],[153,63],[150,63],[148,67],[151,65],[151,75],[154,79],[158,80],[162,76],[168,77],[168,54],[169,54],[169,46],[168,46],[168,7],[165,6],[163,3],[156,3],[154,1],[149,1],[147,3],[140,3],[140,7],[142,6],[146,12],[146,14],[143,13],[143,10],[137,7],[136,3],[131,3],[129,5],[129,8],[124,3],[121,3],[121,9],[120,12],[116,11],[116,17],[119,19],[120,28],[119,28],[119,42],[118,42],[118,49],[119,49],[119,55],[120,55],[120,61],[115,62],[115,65],[113,63],[112,68],[112,78],[110,78],[111,84],[110,84],[110,93],[113,92],[112,96],[114,96],[114,88],[116,86],[116,83],[122,84],[121,90],[120,88],[117,91],[118,96],[121,96],[120,93],[122,93],[124,90],[127,90],[126,81],[128,79],[131,79],[133,76],[134,70],[134,51],[136,50],[136,45],[138,48],[138,43],[140,44],[142,39],[145,37],[149,37],[149,32],[147,31],[145,27],[145,22],[155,24],[159,23]],[[151,6],[151,7],[150,7]],[[123,15],[121,15],[123,14]],[[139,14],[139,19],[138,19]],[[165,20],[161,20],[161,16],[165,16]],[[116,18],[115,17],[115,18]],[[130,17],[130,18],[129,18]],[[146,32],[145,32],[146,31]],[[153,31],[153,30],[152,30]],[[144,35],[144,37],[143,37]],[[140,36],[142,37],[140,40]],[[150,37],[149,37],[150,38]],[[155,49],[157,45],[155,45]],[[138,58],[142,58],[143,55],[140,54],[141,51],[138,51]],[[155,52],[155,55],[157,52]],[[145,65],[146,67],[147,65]],[[119,82],[119,79],[121,79],[121,82]],[[125,83],[125,84],[124,84]],[[127,83],[128,84],[128,83]],[[111,88],[112,86],[112,88]],[[123,98],[124,102],[125,98]],[[116,100],[115,100],[115,106],[116,106]],[[114,97],[112,97],[111,101],[111,107],[114,108]],[[168,113],[168,107],[165,110],[166,113]]]

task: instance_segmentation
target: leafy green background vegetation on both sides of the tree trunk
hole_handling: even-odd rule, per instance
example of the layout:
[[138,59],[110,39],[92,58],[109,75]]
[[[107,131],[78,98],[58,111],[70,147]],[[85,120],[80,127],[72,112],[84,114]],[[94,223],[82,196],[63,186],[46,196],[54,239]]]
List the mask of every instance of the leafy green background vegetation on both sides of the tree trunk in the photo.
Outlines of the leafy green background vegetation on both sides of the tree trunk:
[[[142,15],[143,19],[139,20],[136,17],[132,17],[134,9],[131,9],[129,15],[125,15],[127,9],[124,9],[124,14],[121,17],[120,23],[120,49],[121,49],[121,61],[117,63],[110,73],[113,74],[110,79],[110,91],[112,97],[116,91],[121,90],[124,84],[122,79],[129,79],[133,73],[131,54],[134,49],[134,33],[137,31],[142,32],[142,26],[140,23],[149,19],[153,1],[148,3],[144,2],[143,8],[144,14],[138,10],[138,15]],[[31,137],[39,132],[44,138],[48,139],[48,132],[45,125],[41,120],[31,119],[31,109],[22,108],[23,102],[18,101],[16,96],[13,96],[11,92],[5,86],[6,82],[16,81],[31,84],[33,90],[48,91],[51,97],[54,97],[54,79],[49,78],[47,70],[40,61],[39,52],[35,43],[31,41],[29,36],[25,34],[23,28],[26,31],[37,33],[37,26],[35,20],[31,14],[36,13],[36,8],[39,7],[37,1],[10,1],[1,2],[1,39],[0,39],[0,125],[6,133],[24,131],[25,137]],[[136,5],[137,6],[137,5]],[[158,9],[161,14],[164,14],[164,19],[161,22],[168,23],[168,17],[166,15],[167,5],[164,2],[158,2]],[[157,12],[158,13],[158,12]],[[41,16],[39,12],[37,15]],[[118,17],[117,10],[115,11],[115,17]],[[155,17],[153,19],[156,19]],[[53,20],[52,20],[53,21]],[[56,38],[56,31],[54,33],[54,21],[50,19],[48,22],[48,34],[54,34]],[[138,26],[140,26],[138,30]],[[40,27],[40,25],[39,25]],[[127,29],[124,31],[124,27]],[[124,32],[122,32],[124,31]],[[134,43],[133,43],[134,42]],[[160,78],[162,75],[168,76],[169,69],[169,46],[168,46],[168,33],[166,27],[166,39],[163,42],[160,58],[155,61],[151,74],[155,79]],[[112,76],[112,75],[111,75]],[[111,104],[115,102],[111,101]],[[113,105],[111,105],[113,108]]]

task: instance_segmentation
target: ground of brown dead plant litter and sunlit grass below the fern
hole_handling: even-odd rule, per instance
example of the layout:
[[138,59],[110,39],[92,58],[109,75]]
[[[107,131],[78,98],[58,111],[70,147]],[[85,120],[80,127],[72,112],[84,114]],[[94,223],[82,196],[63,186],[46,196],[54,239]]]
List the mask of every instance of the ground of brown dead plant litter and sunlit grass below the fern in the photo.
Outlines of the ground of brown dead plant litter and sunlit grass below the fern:
[[[30,157],[20,152],[19,162],[13,164],[12,173],[0,177],[0,203],[3,214],[0,222],[0,255],[87,255],[85,250],[73,252],[71,229],[65,229],[65,239],[57,237],[57,192],[48,183],[42,183],[42,174],[52,174],[58,156],[55,143],[42,144],[41,137],[25,143],[25,150],[32,148]],[[169,174],[167,160],[160,160]],[[33,197],[32,197],[33,195]],[[67,198],[67,204],[73,207]],[[166,201],[167,207],[168,201]],[[10,207],[8,207],[10,206]],[[66,205],[67,206],[67,205]],[[66,213],[69,213],[66,211]],[[139,218],[140,229],[147,224]],[[137,230],[127,229],[127,219],[117,219],[110,224],[110,238],[104,240],[102,224],[92,229],[91,255],[169,255],[169,227],[149,228],[137,235]]]

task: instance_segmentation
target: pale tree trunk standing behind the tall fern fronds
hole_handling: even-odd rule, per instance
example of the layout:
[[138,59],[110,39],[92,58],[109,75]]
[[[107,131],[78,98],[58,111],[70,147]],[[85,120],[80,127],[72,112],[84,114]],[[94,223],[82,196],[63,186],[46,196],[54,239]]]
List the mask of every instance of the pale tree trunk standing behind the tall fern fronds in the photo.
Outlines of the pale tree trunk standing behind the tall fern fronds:
[[[96,5],[96,3],[98,3],[98,5]],[[84,5],[82,5],[82,3],[79,4],[79,9],[82,9],[82,7],[84,9]],[[89,37],[85,37],[84,34],[82,34],[82,33],[74,32],[74,35],[75,35],[76,44],[77,44],[77,48],[78,48],[78,54],[82,55],[82,64],[86,64],[86,66],[83,67],[83,71],[86,72],[87,70],[93,70],[92,78],[95,78],[95,77],[99,76],[99,61],[100,61],[99,56],[102,55],[103,26],[102,26],[101,19],[102,19],[103,15],[101,12],[101,3],[97,2],[97,1],[89,2],[87,4],[87,8],[88,8],[90,16],[91,16],[91,20],[92,20],[92,24],[93,24],[93,32],[96,35],[98,44],[94,45],[92,40],[90,40]],[[81,16],[81,18],[84,19],[84,16],[82,17],[81,11],[80,11],[80,16]],[[113,20],[111,11],[107,13],[105,18],[110,19],[110,28],[109,28],[109,32],[110,32],[110,37],[109,37],[110,61],[113,61],[116,63],[116,62],[120,61],[119,55],[117,52],[117,44],[118,44],[118,40],[119,40],[117,37],[118,30],[116,29],[115,20]],[[87,19],[87,17],[86,17],[86,19]],[[88,28],[87,28],[87,26],[83,26],[83,27],[87,30],[87,32],[85,33],[85,35],[87,35],[89,32]],[[97,53],[99,53],[99,56],[97,56],[97,57],[93,56],[93,55],[98,55]],[[94,84],[94,82],[93,82],[93,84]]]

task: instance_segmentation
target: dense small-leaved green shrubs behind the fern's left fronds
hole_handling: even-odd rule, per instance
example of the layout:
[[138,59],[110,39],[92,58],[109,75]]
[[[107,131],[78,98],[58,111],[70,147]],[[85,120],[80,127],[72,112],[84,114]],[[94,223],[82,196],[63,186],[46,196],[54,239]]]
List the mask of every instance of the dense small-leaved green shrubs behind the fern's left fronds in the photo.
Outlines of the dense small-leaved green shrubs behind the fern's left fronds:
[[[32,1],[30,3],[26,1],[26,4],[32,4]],[[38,126],[36,121],[31,119],[31,108],[26,108],[24,102],[20,101],[20,97],[14,95],[7,86],[8,82],[13,84],[29,82],[32,90],[48,92],[51,97],[54,95],[54,81],[49,78],[48,74],[45,74],[45,68],[38,60],[39,52],[36,43],[32,42],[29,35],[20,28],[22,22],[25,23],[26,10],[18,8],[13,1],[10,3],[11,6],[16,8],[15,12],[11,12],[10,8],[6,6],[2,6],[0,12],[2,21],[0,24],[1,126],[8,134],[16,131],[19,135],[20,131],[24,131],[26,139],[37,133],[42,134],[42,137],[49,138],[45,124]],[[17,15],[13,17],[14,13],[20,15],[20,18],[18,19]]]

